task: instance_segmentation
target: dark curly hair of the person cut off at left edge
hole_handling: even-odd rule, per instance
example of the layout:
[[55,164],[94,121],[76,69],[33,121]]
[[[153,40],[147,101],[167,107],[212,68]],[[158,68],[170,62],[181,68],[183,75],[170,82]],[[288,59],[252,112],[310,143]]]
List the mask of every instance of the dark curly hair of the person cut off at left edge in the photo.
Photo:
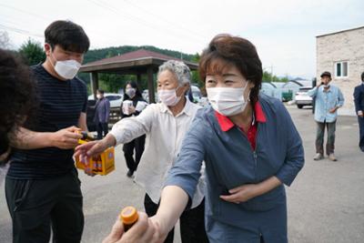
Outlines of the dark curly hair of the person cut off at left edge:
[[31,71],[12,52],[0,49],[0,185],[7,172],[17,129],[35,107],[35,86]]

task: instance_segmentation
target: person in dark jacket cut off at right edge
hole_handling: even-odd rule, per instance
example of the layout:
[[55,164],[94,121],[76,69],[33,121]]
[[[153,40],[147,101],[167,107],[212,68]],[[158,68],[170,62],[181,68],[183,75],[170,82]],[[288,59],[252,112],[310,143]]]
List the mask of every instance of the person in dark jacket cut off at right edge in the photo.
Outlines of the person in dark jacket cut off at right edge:
[[364,72],[361,74],[361,84],[354,89],[354,103],[359,122],[359,147],[364,152]]

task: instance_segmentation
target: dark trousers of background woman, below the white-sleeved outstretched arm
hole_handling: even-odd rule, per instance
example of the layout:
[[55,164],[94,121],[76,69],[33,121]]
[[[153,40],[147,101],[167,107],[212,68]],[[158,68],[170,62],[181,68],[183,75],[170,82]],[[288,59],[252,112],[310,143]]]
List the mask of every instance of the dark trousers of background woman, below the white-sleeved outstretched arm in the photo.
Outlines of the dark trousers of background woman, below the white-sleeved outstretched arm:
[[[126,158],[127,168],[134,172],[139,164],[140,158],[144,152],[144,146],[146,144],[146,136],[136,137],[133,141],[124,144],[123,151]],[[136,149],[136,159],[134,160],[134,149]]]

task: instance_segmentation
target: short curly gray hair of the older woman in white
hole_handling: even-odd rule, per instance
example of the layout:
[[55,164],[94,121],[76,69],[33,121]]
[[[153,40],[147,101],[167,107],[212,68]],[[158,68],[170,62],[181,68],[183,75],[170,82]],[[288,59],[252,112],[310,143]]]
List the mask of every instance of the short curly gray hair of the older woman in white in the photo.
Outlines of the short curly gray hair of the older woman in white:
[[170,71],[176,76],[179,86],[189,84],[191,82],[191,71],[189,70],[189,67],[181,61],[168,60],[159,66],[157,76],[166,70]]

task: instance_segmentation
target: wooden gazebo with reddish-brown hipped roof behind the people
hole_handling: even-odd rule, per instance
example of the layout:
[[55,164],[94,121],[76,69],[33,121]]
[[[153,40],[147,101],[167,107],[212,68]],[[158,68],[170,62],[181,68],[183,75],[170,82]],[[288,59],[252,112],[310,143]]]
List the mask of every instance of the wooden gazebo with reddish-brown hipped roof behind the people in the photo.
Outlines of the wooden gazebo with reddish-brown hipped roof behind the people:
[[[166,56],[145,49],[139,49],[120,56],[101,59],[87,63],[80,68],[80,72],[91,74],[91,86],[94,95],[98,88],[98,73],[119,75],[136,75],[140,84],[141,75],[147,74],[149,102],[155,102],[155,85],[153,75],[157,73],[158,66],[167,60],[180,60],[176,57]],[[182,60],[191,70],[197,70],[197,64]]]

